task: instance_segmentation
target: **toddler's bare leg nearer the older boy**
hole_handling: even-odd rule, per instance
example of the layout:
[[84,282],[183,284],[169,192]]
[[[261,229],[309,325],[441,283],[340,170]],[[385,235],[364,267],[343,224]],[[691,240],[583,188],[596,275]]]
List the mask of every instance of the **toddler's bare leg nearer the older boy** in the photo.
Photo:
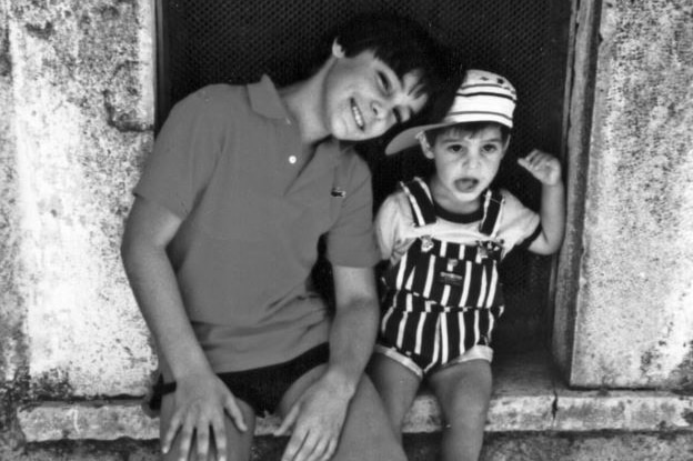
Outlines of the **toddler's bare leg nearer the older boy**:
[[380,353],[373,354],[368,370],[401,442],[404,417],[416,397],[421,380],[403,364]]

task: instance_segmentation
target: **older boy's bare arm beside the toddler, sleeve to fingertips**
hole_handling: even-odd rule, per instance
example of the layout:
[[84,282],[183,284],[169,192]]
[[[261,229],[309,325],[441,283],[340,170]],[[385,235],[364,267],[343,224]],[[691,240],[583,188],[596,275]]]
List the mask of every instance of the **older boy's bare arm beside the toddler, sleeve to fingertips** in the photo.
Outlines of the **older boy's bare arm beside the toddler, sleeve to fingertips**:
[[334,265],[333,278],[337,312],[330,332],[330,362],[275,432],[287,433],[293,425],[282,461],[305,460],[315,447],[325,447],[320,459],[332,457],[375,342],[380,313],[372,269]]

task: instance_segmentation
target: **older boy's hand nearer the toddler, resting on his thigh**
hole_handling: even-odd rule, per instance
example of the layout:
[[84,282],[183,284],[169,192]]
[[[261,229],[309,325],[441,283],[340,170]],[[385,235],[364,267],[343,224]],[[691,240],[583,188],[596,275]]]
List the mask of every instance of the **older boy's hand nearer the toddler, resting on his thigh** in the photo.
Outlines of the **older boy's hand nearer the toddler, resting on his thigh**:
[[293,428],[281,461],[327,461],[339,443],[350,394],[323,375],[291,407],[274,435]]

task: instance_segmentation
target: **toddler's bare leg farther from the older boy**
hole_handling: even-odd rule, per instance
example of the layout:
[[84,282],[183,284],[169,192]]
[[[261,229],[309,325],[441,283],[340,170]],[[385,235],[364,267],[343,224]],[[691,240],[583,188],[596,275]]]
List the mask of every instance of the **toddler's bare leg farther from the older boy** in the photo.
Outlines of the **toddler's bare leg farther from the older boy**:
[[491,364],[462,362],[435,372],[429,382],[444,418],[443,461],[476,461],[491,400]]

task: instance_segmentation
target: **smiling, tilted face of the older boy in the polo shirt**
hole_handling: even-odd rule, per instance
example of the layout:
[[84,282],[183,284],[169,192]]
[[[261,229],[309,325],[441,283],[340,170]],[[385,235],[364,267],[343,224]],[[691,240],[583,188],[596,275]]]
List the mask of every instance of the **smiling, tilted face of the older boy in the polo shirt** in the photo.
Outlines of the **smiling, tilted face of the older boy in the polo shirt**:
[[415,72],[398,78],[372,51],[345,57],[334,42],[335,58],[323,89],[323,120],[337,139],[376,138],[421,111],[428,96],[420,91]]

